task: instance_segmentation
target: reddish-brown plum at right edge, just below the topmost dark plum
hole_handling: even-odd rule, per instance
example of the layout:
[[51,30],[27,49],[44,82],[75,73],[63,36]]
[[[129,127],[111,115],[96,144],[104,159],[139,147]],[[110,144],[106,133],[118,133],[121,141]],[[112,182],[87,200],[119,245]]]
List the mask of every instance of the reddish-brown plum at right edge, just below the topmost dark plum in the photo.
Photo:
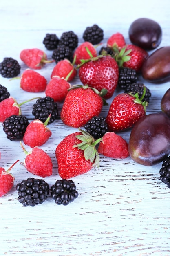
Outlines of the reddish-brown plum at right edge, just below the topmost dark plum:
[[148,56],[141,74],[149,82],[164,83],[170,80],[170,46],[161,47]]

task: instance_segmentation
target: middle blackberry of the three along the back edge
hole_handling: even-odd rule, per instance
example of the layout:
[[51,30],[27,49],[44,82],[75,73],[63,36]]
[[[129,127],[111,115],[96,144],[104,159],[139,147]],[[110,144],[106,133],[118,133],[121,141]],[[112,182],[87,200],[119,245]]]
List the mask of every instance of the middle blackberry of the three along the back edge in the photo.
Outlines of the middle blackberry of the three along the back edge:
[[59,45],[67,46],[73,51],[78,46],[78,36],[73,31],[64,32]]

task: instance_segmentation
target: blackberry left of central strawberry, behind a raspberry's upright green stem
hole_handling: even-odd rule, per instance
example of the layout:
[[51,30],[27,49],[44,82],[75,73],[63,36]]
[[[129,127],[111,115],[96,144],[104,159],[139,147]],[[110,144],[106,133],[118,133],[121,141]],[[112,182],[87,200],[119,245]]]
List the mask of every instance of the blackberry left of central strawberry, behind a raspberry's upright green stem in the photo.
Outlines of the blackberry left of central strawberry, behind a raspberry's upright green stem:
[[33,104],[32,114],[35,116],[35,119],[39,119],[43,123],[51,114],[51,117],[48,123],[48,124],[51,124],[57,119],[57,116],[58,116],[57,103],[54,102],[54,99],[49,96],[40,98],[36,101],[35,104]]

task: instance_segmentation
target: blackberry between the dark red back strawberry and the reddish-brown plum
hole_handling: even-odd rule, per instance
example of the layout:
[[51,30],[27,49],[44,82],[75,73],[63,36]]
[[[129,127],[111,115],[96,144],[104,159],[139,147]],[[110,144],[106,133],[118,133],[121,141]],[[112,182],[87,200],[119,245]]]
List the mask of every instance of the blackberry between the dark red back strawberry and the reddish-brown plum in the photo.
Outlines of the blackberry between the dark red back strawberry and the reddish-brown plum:
[[136,71],[129,67],[119,68],[119,79],[117,85],[125,89],[130,83],[136,83],[138,80]]

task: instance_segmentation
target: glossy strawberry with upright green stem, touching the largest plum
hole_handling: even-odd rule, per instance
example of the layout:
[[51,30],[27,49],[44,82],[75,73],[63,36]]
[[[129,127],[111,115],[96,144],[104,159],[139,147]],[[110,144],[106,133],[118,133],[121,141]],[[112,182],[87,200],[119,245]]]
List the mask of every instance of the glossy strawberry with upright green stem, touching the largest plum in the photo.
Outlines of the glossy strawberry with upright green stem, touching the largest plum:
[[110,131],[121,131],[132,127],[141,117],[146,115],[146,106],[148,103],[142,101],[146,92],[139,99],[139,94],[121,93],[118,94],[110,104],[106,116],[106,124]]

